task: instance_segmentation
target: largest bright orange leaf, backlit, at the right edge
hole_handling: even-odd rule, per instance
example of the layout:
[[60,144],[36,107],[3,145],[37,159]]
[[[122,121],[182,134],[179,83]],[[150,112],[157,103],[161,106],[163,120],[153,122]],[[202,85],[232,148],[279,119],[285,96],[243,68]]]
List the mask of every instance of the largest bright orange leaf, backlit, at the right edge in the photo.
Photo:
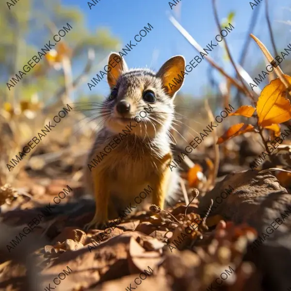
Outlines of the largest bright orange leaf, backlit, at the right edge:
[[[284,75],[291,83],[291,77]],[[271,81],[261,92],[257,103],[259,125],[266,127],[291,118],[291,104],[286,99],[286,88],[279,78]]]

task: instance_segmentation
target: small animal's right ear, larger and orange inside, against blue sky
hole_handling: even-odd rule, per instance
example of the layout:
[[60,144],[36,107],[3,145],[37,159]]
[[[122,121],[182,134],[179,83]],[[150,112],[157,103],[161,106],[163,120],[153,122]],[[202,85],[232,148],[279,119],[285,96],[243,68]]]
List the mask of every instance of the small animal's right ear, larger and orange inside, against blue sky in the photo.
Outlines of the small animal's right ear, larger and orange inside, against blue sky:
[[175,56],[162,65],[156,76],[162,79],[162,87],[166,94],[173,97],[182,87],[184,75],[185,59],[182,56]]

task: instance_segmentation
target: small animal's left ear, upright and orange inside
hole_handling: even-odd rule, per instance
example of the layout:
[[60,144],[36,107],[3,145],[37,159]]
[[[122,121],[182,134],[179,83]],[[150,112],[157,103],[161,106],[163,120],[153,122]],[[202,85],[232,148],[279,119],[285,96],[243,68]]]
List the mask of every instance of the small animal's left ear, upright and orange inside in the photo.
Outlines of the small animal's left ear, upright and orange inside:
[[108,74],[107,81],[110,88],[116,85],[119,76],[128,70],[128,66],[123,58],[121,58],[117,53],[113,52],[108,58]]

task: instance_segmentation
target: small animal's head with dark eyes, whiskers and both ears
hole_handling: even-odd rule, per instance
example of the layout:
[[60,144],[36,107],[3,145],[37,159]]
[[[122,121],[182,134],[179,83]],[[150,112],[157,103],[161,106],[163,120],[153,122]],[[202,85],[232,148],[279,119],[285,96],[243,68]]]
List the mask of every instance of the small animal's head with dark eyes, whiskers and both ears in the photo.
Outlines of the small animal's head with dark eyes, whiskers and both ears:
[[170,129],[173,100],[184,81],[182,56],[170,58],[154,73],[149,69],[128,69],[124,59],[112,53],[108,71],[111,93],[102,112],[107,128],[119,133],[131,123],[135,126],[131,134],[150,138]]

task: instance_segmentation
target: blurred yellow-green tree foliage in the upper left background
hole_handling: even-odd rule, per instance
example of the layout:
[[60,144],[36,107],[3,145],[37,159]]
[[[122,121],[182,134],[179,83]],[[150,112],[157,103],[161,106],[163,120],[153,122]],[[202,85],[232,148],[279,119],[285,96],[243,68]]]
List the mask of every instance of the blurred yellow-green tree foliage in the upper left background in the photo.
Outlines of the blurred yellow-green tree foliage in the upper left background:
[[[91,33],[85,26],[78,7],[62,6],[59,0],[21,0],[10,9],[6,1],[0,2],[0,92],[3,101],[31,100],[37,95],[45,102],[55,101],[56,93],[64,86],[64,72],[49,66],[45,57],[9,91],[6,83],[15,77],[23,65],[44,48],[63,26],[73,29],[62,40],[71,50],[73,80],[81,74],[87,63],[88,49],[95,51],[93,65],[116,49],[119,40],[106,28]],[[55,48],[55,47],[54,47]]]

